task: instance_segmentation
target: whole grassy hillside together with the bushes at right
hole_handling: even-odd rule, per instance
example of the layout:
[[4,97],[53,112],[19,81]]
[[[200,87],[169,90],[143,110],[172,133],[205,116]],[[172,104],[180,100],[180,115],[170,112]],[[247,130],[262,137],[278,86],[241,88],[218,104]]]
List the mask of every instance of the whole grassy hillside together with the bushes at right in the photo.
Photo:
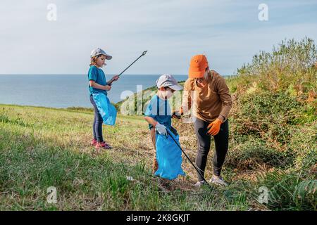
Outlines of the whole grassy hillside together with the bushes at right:
[[[187,176],[168,193],[159,188],[142,116],[118,115],[116,127],[104,127],[113,150],[97,154],[89,146],[91,110],[0,105],[0,210],[316,210],[316,61],[312,40],[283,41],[227,79],[234,103],[223,177],[230,185],[213,191],[192,187],[186,159]],[[193,125],[173,124],[194,160]],[[212,158],[211,151],[207,179]],[[49,186],[56,204],[46,202]],[[258,201],[263,188],[268,203]]]

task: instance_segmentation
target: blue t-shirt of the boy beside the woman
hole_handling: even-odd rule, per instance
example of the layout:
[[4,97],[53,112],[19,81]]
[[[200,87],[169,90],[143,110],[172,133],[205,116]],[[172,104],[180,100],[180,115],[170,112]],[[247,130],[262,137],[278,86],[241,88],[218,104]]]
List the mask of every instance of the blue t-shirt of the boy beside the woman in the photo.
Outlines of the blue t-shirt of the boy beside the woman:
[[[168,100],[162,100],[159,96],[155,95],[151,98],[147,110],[144,113],[147,117],[152,117],[154,120],[163,124],[170,129],[172,127],[172,114],[170,113],[170,104]],[[149,124],[149,129],[153,126]]]

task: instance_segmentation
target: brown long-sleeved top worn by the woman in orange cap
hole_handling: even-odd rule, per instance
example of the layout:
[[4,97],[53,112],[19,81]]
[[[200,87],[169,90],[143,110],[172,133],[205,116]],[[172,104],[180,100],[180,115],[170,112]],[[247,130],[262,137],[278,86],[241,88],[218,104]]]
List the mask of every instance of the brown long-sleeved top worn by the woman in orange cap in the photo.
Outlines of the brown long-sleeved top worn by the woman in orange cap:
[[182,109],[186,113],[192,108],[194,117],[206,122],[213,122],[217,118],[224,122],[228,119],[232,106],[225,79],[216,71],[211,70],[206,82],[204,87],[199,87],[194,78],[186,80],[182,95]]

